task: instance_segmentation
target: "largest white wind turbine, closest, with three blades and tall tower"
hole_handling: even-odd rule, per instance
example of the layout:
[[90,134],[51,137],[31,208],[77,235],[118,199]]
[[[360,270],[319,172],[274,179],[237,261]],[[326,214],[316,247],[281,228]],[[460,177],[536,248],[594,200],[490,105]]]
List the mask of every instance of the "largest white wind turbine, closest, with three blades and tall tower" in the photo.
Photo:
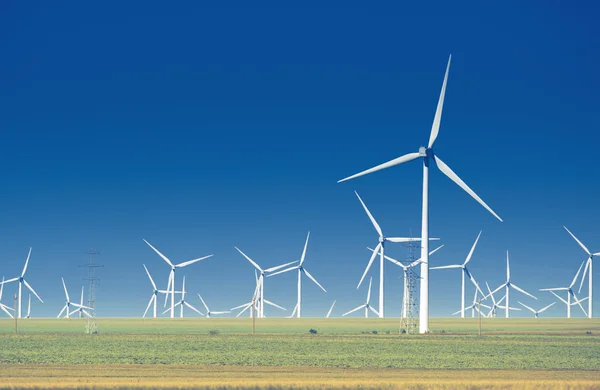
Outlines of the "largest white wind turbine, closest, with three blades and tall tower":
[[[433,125],[431,126],[431,134],[429,136],[429,143],[427,147],[419,148],[419,151],[416,153],[405,154],[404,156],[395,158],[386,163],[378,165],[374,168],[367,169],[366,171],[357,173],[350,177],[340,180],[339,182],[353,179],[355,177],[363,176],[369,174],[371,172],[379,171],[381,169],[393,167],[398,164],[402,164],[405,162],[409,162],[418,158],[423,159],[423,211],[422,211],[422,222],[421,222],[421,258],[423,262],[421,263],[421,296],[420,296],[420,309],[419,309],[419,333],[427,333],[429,332],[429,165],[430,163],[435,162],[437,167],[444,173],[446,176],[450,178],[454,183],[456,183],[459,187],[465,190],[469,195],[471,195],[477,202],[479,202],[486,210],[488,210],[492,215],[498,218],[500,221],[502,219],[475,193],[469,186],[465,184],[464,181],[460,177],[450,169],[448,165],[446,165],[435,153],[433,152],[433,144],[438,136],[438,132],[440,129],[440,122],[442,119],[442,109],[444,106],[444,95],[446,93],[446,83],[448,82],[448,72],[450,70],[450,60],[452,56],[448,59],[448,66],[446,67],[446,74],[444,76],[444,82],[442,84],[442,91],[440,93],[440,99],[438,101],[437,109],[435,112],[435,117],[433,119]],[[338,183],[339,183],[338,182]]]

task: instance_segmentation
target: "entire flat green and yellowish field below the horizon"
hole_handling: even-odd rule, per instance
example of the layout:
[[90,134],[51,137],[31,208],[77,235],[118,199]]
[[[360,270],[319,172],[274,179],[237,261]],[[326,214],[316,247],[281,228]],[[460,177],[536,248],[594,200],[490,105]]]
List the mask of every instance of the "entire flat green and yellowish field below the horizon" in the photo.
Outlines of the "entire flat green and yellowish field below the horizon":
[[[486,319],[481,337],[473,319],[434,319],[432,333],[423,336],[399,335],[397,319],[261,319],[254,336],[251,324],[248,318],[100,319],[100,333],[85,335],[85,320],[30,319],[14,335],[14,322],[0,320],[0,383],[394,387],[412,378],[415,386],[449,388],[600,387],[599,320]],[[104,374],[90,377],[83,367]],[[149,382],[143,374],[149,367],[179,376]],[[270,371],[244,382],[261,370]],[[264,382],[267,372],[277,373],[272,382]],[[494,375],[498,381],[485,382]]]

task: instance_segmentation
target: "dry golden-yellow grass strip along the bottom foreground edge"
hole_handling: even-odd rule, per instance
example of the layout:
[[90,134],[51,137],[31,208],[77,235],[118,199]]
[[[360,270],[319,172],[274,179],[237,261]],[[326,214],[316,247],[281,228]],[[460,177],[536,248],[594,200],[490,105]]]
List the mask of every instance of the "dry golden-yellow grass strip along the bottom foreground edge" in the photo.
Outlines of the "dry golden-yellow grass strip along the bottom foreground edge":
[[0,365],[5,388],[594,389],[598,371]]

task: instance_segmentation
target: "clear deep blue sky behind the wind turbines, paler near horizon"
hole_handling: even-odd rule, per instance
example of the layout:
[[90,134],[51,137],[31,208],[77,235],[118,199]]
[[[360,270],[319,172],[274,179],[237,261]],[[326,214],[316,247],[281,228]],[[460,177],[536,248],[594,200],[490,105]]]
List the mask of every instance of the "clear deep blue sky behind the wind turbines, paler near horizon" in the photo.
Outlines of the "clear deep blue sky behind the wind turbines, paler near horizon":
[[[45,300],[32,315],[55,316],[60,277],[75,295],[92,245],[99,315],[139,316],[142,264],[163,284],[168,273],[145,238],[177,262],[214,253],[184,274],[220,310],[253,290],[234,246],[268,267],[298,259],[310,230],[306,267],[328,292],[307,282],[303,314],[337,299],[340,315],[363,302],[377,243],[353,190],[386,234],[418,235],[421,167],[336,182],[427,142],[452,54],[436,152],[505,222],[433,170],[431,234],[445,248],[432,265],[463,261],[483,230],[477,280],[503,282],[509,250],[513,281],[539,297],[511,302],[545,306],[536,290],[568,284],[586,258],[562,225],[600,251],[597,7],[3,4],[0,273],[18,274],[32,246],[27,280]],[[400,270],[386,272],[397,315]],[[431,284],[432,316],[458,310],[459,271]],[[291,310],[295,276],[265,294]]]

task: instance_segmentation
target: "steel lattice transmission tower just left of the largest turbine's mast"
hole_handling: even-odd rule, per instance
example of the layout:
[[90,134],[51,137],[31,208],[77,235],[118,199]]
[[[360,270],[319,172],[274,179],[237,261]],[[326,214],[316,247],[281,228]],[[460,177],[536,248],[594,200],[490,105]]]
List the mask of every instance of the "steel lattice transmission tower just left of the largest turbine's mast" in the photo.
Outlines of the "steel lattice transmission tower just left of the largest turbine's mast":
[[[412,237],[412,233],[411,233]],[[406,264],[412,264],[418,258],[416,253],[421,252],[421,245],[417,242],[408,242],[405,244],[408,248]],[[404,271],[406,274],[406,286],[402,297],[402,312],[400,313],[400,333],[414,334],[419,328],[419,305],[415,299],[417,280],[420,276],[414,271],[415,267]],[[404,278],[404,275],[402,275]]]

